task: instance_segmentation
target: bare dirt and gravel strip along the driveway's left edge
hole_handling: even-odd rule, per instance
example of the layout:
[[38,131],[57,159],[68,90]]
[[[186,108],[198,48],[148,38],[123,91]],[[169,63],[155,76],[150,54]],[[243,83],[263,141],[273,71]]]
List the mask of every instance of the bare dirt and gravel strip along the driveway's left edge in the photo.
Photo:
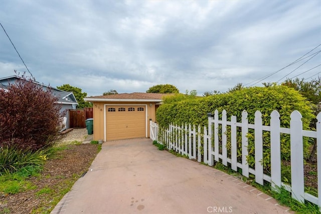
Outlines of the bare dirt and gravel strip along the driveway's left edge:
[[[97,145],[67,143],[83,140],[83,133],[83,130],[75,129],[64,136],[68,137],[68,141],[63,141],[67,148],[46,162],[40,176],[29,178],[35,189],[0,194],[0,213],[48,213],[52,210],[72,184],[88,170],[98,153]],[[76,139],[70,137],[72,135]]]

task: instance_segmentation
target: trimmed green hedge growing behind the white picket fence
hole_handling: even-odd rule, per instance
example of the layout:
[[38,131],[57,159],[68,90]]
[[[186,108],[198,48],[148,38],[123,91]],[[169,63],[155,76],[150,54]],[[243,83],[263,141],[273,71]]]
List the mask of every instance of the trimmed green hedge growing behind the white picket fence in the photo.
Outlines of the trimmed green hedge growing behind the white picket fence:
[[[298,110],[302,115],[303,129],[309,129],[310,121],[315,117],[312,111],[313,105],[302,97],[297,91],[286,86],[271,86],[271,87],[252,87],[244,88],[239,91],[234,91],[226,94],[218,94],[202,98],[192,98],[190,96],[183,97],[182,95],[169,96],[164,100],[156,112],[157,122],[161,127],[167,127],[170,123],[195,124],[207,126],[207,113],[214,113],[215,109],[221,114],[223,109],[227,111],[227,118],[237,116],[238,122],[241,122],[241,114],[243,110],[248,112],[248,121],[254,124],[254,113],[259,110],[262,113],[263,125],[269,125],[270,114],[273,110],[277,110],[280,114],[281,127],[289,128],[290,114],[294,110]],[[228,129],[229,131],[229,129]],[[250,130],[249,138],[249,156],[248,161],[250,166],[254,165],[254,131]],[[240,132],[238,132],[238,154],[241,154]],[[263,133],[263,165],[269,170],[269,133]],[[227,144],[230,149],[230,142]],[[304,154],[307,155],[308,142],[304,140]],[[290,142],[289,135],[281,135],[281,155],[285,160],[290,158]],[[239,156],[240,158],[240,156]]]

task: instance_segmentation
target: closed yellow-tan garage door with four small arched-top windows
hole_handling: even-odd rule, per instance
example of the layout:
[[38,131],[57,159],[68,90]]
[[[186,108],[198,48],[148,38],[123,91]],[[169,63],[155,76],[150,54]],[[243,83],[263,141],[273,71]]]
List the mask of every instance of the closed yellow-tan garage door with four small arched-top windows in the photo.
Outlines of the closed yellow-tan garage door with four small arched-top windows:
[[106,140],[145,136],[145,106],[106,106]]

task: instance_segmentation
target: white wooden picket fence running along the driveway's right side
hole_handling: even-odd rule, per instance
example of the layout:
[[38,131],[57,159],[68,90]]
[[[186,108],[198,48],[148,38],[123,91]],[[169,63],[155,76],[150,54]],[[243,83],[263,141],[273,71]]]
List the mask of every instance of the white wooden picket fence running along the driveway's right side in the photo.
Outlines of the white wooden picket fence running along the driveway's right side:
[[[254,124],[248,124],[248,113],[242,112],[241,122],[237,122],[236,116],[231,117],[231,121],[227,121],[226,111],[222,111],[222,118],[219,119],[219,112],[215,110],[214,115],[208,114],[208,128],[195,125],[170,125],[167,129],[159,129],[158,125],[150,121],[150,138],[157,140],[158,143],[164,144],[170,150],[188,156],[190,159],[202,161],[202,140],[203,146],[203,162],[214,165],[215,161],[220,161],[224,165],[231,164],[231,168],[237,171],[242,169],[242,174],[249,177],[249,173],[255,175],[255,181],[263,185],[263,180],[271,183],[274,190],[283,186],[287,191],[292,193],[292,197],[303,202],[304,199],[321,207],[321,167],[317,167],[317,187],[318,197],[304,191],[304,171],[303,171],[303,137],[316,138],[317,143],[317,163],[321,164],[321,112],[318,113],[316,119],[316,131],[302,130],[301,114],[293,111],[290,115],[290,128],[280,127],[280,115],[277,111],[273,111],[270,116],[270,126],[262,125],[262,114],[260,111],[255,112]],[[219,133],[219,125],[221,133]],[[227,155],[227,127],[230,126],[229,138],[231,139],[231,155]],[[242,158],[241,162],[237,161],[237,127],[241,127],[242,135]],[[248,156],[248,138],[249,129],[254,129],[255,144],[255,169],[249,167],[247,163]],[[261,163],[263,159],[263,131],[270,132],[270,148],[271,148],[271,175],[267,175],[263,171]],[[161,133],[159,133],[161,132]],[[281,182],[281,148],[280,134],[290,135],[291,148],[291,185]],[[221,150],[219,152],[219,134],[221,135]],[[212,143],[212,139],[214,142]],[[214,146],[213,146],[214,145]]]

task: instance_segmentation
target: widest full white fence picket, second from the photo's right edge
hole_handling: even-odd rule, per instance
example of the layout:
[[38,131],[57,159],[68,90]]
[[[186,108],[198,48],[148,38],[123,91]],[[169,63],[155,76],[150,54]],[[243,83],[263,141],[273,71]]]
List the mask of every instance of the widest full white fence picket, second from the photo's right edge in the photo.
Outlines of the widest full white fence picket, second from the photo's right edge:
[[290,118],[292,197],[304,202],[302,115],[295,110]]

